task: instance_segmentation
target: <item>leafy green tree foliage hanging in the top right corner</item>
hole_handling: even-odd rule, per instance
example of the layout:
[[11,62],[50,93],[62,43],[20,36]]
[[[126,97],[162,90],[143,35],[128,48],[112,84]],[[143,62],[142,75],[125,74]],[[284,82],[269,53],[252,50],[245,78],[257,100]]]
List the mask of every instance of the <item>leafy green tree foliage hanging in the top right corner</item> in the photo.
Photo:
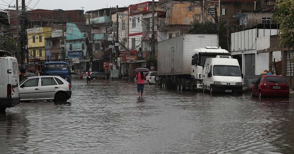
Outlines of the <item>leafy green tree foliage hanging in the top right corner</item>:
[[276,0],[277,11],[272,20],[278,23],[279,45],[282,47],[294,47],[294,0]]

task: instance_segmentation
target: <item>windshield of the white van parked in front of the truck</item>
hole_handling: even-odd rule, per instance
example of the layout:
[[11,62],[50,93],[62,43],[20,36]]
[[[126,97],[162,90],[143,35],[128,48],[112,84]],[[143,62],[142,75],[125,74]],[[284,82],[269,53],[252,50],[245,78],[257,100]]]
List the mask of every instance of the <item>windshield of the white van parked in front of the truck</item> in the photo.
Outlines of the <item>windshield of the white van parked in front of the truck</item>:
[[239,66],[215,65],[213,75],[217,76],[241,76]]

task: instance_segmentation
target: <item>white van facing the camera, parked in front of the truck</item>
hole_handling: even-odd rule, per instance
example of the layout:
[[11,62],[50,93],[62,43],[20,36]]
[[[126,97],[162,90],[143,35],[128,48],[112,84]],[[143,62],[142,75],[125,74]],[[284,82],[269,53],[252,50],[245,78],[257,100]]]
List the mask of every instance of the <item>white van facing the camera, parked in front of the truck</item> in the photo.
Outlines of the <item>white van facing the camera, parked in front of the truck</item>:
[[231,56],[207,58],[203,68],[203,91],[242,94],[243,84],[237,59]]

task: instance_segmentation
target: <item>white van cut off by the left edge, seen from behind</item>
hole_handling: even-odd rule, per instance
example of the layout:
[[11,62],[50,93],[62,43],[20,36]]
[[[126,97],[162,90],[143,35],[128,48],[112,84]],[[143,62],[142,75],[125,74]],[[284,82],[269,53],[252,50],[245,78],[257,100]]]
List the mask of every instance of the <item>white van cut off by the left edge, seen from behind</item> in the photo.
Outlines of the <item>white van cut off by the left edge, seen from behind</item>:
[[20,105],[19,69],[14,57],[0,57],[0,111]]

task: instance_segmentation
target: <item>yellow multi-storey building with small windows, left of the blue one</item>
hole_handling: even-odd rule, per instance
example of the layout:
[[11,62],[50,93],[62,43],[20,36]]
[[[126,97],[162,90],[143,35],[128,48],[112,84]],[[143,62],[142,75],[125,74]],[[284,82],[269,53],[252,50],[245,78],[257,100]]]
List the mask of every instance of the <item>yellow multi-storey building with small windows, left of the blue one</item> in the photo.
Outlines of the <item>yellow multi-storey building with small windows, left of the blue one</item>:
[[51,37],[51,27],[31,28],[26,32],[29,59],[45,60],[45,38]]

